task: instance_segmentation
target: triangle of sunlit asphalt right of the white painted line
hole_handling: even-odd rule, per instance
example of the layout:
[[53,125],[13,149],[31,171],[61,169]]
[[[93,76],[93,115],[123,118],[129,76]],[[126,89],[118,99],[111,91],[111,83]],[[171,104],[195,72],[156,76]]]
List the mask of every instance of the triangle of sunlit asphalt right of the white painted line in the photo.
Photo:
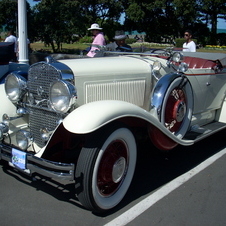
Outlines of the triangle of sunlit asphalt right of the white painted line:
[[128,225],[226,225],[226,155]]

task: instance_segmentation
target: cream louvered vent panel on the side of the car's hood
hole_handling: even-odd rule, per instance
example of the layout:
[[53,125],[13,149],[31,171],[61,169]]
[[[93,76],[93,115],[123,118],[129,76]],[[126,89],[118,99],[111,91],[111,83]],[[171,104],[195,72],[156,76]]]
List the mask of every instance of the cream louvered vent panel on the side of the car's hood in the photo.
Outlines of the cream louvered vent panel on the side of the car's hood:
[[143,106],[144,93],[144,79],[86,84],[86,103],[98,100],[122,100]]

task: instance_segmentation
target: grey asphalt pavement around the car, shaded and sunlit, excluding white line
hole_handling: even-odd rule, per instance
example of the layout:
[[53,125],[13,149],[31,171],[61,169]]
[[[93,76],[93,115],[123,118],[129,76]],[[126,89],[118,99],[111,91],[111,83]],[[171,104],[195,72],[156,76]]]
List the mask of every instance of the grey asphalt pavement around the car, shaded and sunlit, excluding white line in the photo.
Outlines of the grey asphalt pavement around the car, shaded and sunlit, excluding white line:
[[[28,177],[0,162],[1,226],[105,225],[226,147],[226,131],[169,153],[139,146],[133,182],[114,210],[97,215],[74,195],[74,183]],[[128,225],[226,225],[226,155],[185,181]],[[120,225],[120,224],[118,224]],[[122,224],[121,224],[122,225]]]

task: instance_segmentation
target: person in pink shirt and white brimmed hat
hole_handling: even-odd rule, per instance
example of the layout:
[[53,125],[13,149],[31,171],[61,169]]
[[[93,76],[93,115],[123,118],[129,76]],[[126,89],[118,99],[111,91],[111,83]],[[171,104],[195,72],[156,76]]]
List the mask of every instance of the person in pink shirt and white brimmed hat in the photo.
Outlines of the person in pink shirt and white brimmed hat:
[[91,49],[87,53],[87,56],[94,57],[96,55],[96,50],[99,50],[101,46],[105,46],[106,43],[103,32],[101,32],[102,28],[99,27],[98,24],[92,24],[91,27],[88,28],[88,30],[92,31],[94,39],[91,45]]

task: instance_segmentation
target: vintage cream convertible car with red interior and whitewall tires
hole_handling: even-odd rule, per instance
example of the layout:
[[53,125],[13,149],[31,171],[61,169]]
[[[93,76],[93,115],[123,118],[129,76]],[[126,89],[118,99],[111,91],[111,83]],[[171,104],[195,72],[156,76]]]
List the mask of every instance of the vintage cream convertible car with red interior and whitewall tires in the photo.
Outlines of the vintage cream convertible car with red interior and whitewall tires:
[[0,159],[74,180],[84,207],[112,209],[133,178],[140,131],[170,150],[226,128],[225,66],[226,54],[159,51],[47,58],[27,79],[12,72],[5,91],[16,111],[2,115]]

